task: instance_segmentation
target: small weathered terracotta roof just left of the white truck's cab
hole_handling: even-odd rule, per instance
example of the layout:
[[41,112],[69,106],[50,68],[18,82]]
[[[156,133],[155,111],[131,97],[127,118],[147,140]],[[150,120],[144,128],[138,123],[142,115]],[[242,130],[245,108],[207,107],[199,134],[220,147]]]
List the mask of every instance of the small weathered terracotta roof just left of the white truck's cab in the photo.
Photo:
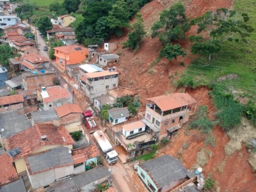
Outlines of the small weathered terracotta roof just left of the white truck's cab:
[[89,145],[82,149],[73,150],[73,160],[74,164],[83,163],[87,159],[96,157],[99,155],[98,148],[96,144]]

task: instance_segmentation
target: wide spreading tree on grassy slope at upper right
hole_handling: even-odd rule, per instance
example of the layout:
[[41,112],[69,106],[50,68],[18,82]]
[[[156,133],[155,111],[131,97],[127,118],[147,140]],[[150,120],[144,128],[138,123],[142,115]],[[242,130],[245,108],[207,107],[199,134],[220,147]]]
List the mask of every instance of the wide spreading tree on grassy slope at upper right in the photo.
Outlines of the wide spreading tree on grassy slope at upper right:
[[246,37],[254,31],[253,27],[247,24],[249,16],[247,13],[238,13],[226,8],[218,9],[217,12],[206,12],[199,18],[191,21],[191,24],[197,24],[197,33],[206,31],[210,38],[203,38],[195,36],[190,38],[195,42],[192,46],[192,53],[203,53],[211,56],[219,52],[224,41],[246,41]]

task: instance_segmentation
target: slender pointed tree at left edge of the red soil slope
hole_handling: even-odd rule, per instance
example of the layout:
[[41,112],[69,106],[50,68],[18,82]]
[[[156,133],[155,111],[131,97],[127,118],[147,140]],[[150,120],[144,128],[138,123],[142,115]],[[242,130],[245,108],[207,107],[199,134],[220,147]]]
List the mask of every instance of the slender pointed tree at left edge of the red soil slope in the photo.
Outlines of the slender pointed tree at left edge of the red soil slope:
[[136,21],[130,27],[130,32],[128,33],[128,40],[124,43],[124,47],[129,47],[134,51],[139,48],[141,40],[146,35],[143,19],[140,12],[137,13],[135,19]]

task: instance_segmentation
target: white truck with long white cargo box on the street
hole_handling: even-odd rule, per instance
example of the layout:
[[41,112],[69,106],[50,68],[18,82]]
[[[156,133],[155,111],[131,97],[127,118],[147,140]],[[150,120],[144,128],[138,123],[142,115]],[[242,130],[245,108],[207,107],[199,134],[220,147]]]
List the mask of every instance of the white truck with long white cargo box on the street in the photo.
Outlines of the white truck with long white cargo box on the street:
[[112,145],[110,144],[105,134],[101,130],[98,130],[93,133],[93,136],[96,139],[102,152],[104,153],[104,156],[108,161],[108,164],[111,165],[117,162],[118,154],[115,150],[112,150]]

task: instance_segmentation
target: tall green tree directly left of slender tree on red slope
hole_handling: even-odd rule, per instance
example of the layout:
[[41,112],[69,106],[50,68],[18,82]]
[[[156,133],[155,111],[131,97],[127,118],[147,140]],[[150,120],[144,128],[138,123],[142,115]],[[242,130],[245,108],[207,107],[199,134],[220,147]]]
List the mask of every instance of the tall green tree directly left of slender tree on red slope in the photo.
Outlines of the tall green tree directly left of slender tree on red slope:
[[117,36],[122,36],[121,29],[129,26],[129,10],[124,0],[116,0],[108,15],[108,25]]

